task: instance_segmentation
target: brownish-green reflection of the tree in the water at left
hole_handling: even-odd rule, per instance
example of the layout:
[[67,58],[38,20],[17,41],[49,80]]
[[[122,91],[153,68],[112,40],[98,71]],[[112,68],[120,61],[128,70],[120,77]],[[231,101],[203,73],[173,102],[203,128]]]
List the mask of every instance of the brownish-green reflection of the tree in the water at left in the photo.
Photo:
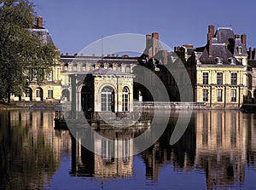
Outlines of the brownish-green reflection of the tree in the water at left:
[[0,188],[42,189],[60,164],[44,131],[0,114]]

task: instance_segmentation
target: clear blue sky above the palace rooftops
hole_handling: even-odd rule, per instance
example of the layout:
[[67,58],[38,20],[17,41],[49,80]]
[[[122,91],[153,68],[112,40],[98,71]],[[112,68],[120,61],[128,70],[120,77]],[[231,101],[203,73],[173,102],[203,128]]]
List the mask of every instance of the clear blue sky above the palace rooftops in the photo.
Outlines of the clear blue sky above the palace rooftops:
[[255,0],[31,0],[55,46],[73,55],[113,34],[159,32],[170,47],[203,46],[207,26],[231,26],[256,47]]

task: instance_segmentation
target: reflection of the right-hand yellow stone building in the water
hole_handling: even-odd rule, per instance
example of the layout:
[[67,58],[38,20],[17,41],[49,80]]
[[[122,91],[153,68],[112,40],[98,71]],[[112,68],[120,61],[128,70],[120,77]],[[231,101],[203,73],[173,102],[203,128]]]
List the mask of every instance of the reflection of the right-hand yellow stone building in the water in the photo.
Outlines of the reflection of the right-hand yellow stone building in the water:
[[197,112],[195,167],[206,170],[207,187],[243,184],[246,124],[241,112]]

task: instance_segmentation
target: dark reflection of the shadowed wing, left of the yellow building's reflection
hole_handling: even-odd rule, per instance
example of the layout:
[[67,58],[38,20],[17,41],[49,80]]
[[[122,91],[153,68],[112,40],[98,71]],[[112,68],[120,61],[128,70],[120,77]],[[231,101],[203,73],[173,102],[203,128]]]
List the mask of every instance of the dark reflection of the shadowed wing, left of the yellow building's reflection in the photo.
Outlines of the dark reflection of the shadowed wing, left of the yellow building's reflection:
[[191,118],[189,126],[181,139],[175,145],[170,146],[169,141],[176,122],[177,118],[170,118],[170,122],[160,140],[143,153],[140,153],[146,166],[147,179],[157,181],[160,167],[164,164],[172,163],[174,170],[177,171],[187,172],[193,169],[195,162],[194,118]]

